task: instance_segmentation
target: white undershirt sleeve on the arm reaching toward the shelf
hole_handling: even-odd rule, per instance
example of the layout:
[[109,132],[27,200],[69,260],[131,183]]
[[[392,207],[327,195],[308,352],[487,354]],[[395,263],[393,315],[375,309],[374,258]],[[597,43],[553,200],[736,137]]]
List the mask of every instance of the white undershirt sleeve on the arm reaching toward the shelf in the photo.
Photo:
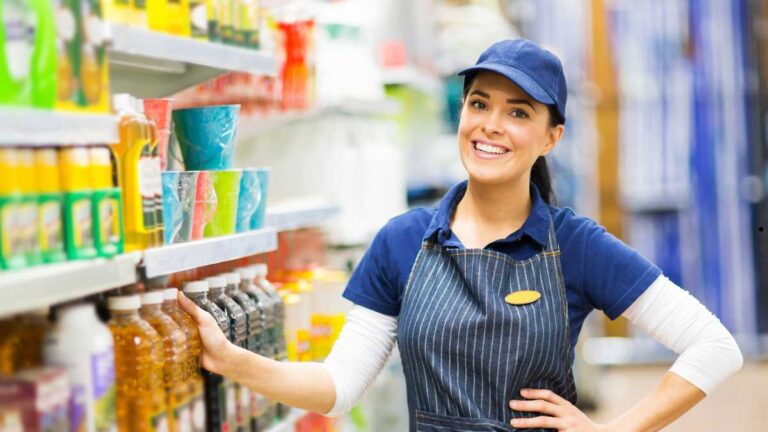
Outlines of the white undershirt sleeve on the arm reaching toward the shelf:
[[347,413],[379,375],[392,353],[397,318],[355,305],[325,359],[325,368],[336,386],[336,402],[325,415]]

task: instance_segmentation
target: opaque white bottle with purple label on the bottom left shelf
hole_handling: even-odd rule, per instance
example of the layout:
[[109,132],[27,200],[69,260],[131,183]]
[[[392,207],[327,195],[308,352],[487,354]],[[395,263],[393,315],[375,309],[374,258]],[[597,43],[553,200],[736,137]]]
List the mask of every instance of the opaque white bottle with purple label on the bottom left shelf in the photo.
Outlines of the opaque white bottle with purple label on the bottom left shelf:
[[93,304],[59,310],[56,326],[45,339],[46,366],[67,369],[70,430],[110,432],[115,418],[114,343]]

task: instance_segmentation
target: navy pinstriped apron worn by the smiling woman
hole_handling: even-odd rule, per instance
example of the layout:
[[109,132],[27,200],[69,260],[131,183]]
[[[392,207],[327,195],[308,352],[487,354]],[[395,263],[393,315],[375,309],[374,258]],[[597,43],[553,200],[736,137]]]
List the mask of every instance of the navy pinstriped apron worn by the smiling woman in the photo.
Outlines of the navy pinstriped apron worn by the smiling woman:
[[[410,430],[510,431],[520,389],[549,389],[576,403],[568,303],[550,220],[547,246],[516,261],[487,249],[425,241],[402,301],[397,342]],[[515,291],[539,300],[508,304]],[[530,430],[530,429],[526,429]]]

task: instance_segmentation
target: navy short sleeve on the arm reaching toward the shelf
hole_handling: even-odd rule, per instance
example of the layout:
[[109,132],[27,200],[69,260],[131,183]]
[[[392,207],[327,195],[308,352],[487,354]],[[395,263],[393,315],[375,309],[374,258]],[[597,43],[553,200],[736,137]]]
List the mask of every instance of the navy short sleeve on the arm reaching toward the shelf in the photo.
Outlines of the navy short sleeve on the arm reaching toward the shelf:
[[387,228],[382,228],[374,237],[352,272],[343,296],[375,312],[397,316],[400,313],[400,294],[395,276],[397,269],[392,268],[388,259]]

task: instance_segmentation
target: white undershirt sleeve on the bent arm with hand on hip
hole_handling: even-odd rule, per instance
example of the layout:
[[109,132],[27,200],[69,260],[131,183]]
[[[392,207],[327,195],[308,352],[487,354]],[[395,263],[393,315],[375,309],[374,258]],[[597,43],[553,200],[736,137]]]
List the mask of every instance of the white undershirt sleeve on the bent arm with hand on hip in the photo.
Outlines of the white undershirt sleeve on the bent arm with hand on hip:
[[680,354],[670,371],[706,394],[744,362],[736,341],[720,320],[663,275],[623,315]]

